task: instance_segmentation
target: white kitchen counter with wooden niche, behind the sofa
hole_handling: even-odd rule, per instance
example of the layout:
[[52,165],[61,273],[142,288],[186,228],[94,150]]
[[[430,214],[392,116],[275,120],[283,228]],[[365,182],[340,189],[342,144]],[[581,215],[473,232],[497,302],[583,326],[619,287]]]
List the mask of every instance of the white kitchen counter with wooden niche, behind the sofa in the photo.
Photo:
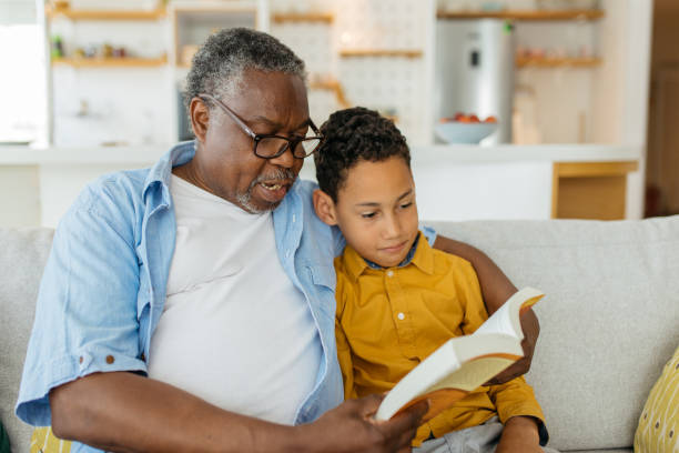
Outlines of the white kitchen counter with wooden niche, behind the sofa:
[[[103,173],[149,167],[169,148],[0,145],[2,223],[13,224],[11,211],[21,210],[27,220],[14,224],[54,226],[88,182]],[[626,184],[629,173],[639,178],[642,147],[414,145],[411,154],[422,219],[612,219],[641,212],[641,197],[626,194]],[[300,177],[315,179],[313,159],[306,160]],[[590,197],[594,192],[601,195]]]

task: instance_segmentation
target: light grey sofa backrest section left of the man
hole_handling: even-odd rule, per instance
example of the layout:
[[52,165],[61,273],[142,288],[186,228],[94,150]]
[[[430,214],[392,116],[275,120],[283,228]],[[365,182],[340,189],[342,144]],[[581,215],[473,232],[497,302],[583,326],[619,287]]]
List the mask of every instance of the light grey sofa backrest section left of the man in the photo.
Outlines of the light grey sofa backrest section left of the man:
[[0,420],[16,452],[31,439],[32,427],[14,416],[14,404],[52,235],[48,229],[0,229]]

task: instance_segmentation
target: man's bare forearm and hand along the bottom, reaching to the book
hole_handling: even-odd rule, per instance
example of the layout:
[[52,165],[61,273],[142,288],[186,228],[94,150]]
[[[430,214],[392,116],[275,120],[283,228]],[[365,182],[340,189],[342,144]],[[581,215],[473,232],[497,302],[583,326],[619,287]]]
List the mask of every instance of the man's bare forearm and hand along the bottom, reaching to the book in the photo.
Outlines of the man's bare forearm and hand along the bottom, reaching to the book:
[[50,392],[61,439],[112,452],[408,452],[427,404],[371,421],[381,396],[345,402],[316,422],[285,426],[223,411],[128,372],[95,373]]

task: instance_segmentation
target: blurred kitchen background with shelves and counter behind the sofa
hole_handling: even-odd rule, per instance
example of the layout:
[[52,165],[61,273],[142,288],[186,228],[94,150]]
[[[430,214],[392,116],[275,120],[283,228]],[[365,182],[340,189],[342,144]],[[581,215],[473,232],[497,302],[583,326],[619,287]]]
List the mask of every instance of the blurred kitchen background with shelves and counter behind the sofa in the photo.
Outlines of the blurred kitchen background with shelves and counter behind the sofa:
[[317,124],[392,118],[423,219],[679,213],[676,0],[0,0],[0,226],[191,139],[183,80],[229,27],[304,59]]

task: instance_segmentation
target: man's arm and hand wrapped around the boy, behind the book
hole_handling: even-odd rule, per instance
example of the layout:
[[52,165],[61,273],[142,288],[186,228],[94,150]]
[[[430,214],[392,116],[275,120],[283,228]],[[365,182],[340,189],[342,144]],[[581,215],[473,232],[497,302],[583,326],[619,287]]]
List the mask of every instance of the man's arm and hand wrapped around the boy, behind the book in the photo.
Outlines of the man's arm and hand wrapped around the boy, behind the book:
[[[436,236],[434,248],[462,256],[472,263],[478,275],[488,314],[495,313],[517,291],[507,275],[480,250],[440,234]],[[540,324],[533,310],[526,310],[521,315],[521,329],[524,330],[524,341],[521,342],[524,358],[495,376],[488,384],[505,383],[530,370],[535,344],[540,333]]]

